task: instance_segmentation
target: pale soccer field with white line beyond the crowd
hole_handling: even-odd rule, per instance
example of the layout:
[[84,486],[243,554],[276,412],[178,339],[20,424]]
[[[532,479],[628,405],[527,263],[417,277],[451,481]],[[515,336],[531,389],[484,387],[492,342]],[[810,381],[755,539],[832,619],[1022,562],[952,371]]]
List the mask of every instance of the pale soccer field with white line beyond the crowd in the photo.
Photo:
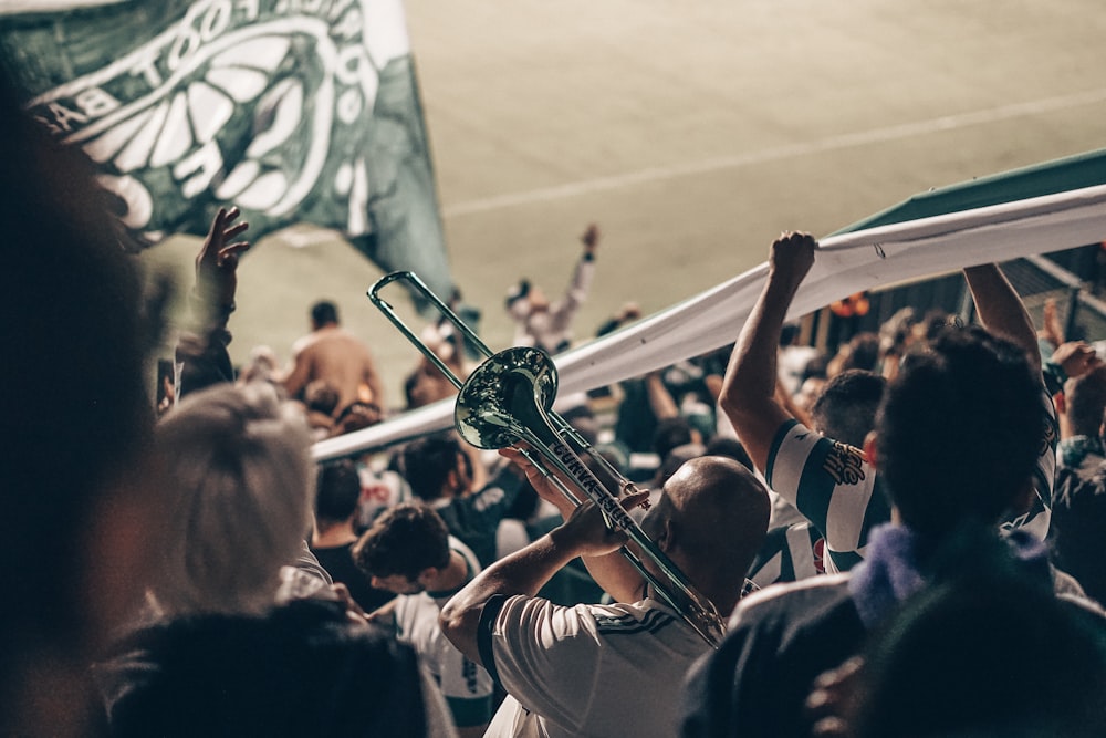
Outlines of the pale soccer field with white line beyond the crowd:
[[[556,293],[598,222],[577,337],[930,187],[1106,146],[1100,0],[407,0],[453,276],[505,347],[507,289]],[[1104,233],[1106,237],[1106,233]],[[176,239],[152,260],[187,263]],[[1042,245],[1047,250],[1047,245]],[[288,357],[335,300],[399,402],[414,350],[365,299],[380,270],[296,229],[241,267],[236,361]],[[734,335],[738,331],[734,325]]]

